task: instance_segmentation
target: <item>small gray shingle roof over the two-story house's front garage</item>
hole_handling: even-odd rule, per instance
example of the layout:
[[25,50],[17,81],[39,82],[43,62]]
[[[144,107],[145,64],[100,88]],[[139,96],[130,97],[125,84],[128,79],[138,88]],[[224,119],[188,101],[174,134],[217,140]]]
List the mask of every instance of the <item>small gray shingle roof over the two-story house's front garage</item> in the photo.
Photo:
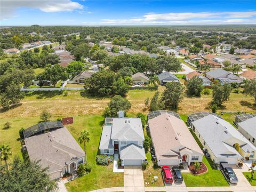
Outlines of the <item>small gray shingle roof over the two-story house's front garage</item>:
[[120,151],[121,159],[146,159],[145,149],[143,147],[139,147],[133,143],[125,146]]

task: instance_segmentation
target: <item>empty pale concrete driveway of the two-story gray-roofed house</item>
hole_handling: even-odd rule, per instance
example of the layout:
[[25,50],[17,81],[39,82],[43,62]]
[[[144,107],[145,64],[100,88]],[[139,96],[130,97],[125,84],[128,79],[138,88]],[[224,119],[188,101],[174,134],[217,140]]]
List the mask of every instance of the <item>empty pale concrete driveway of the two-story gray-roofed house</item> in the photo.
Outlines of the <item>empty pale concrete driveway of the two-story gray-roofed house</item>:
[[124,191],[145,191],[141,166],[124,166]]

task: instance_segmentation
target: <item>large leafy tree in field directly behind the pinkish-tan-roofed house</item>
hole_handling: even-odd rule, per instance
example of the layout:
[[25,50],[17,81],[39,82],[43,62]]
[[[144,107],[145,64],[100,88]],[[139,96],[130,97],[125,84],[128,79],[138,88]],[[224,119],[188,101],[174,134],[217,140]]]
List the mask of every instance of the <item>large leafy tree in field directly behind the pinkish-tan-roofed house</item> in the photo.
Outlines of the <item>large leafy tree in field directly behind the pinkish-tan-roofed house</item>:
[[162,101],[166,108],[177,109],[179,102],[183,99],[185,87],[179,82],[168,82],[162,94]]

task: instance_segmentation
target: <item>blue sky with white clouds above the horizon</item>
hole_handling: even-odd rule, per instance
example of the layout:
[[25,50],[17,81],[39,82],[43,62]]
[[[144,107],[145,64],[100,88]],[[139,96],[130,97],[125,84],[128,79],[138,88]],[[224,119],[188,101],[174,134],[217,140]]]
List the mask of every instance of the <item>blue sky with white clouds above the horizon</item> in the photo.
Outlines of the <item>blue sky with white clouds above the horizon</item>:
[[1,0],[0,9],[1,26],[256,24],[256,0]]

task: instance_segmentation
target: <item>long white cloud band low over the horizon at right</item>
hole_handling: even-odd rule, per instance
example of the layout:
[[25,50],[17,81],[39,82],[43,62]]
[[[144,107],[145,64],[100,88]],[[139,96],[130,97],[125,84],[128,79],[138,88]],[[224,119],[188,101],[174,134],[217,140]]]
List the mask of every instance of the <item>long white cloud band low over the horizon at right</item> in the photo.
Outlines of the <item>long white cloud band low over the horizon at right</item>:
[[255,24],[256,11],[250,12],[198,12],[198,13],[146,13],[141,18],[102,19],[101,25],[218,25]]

